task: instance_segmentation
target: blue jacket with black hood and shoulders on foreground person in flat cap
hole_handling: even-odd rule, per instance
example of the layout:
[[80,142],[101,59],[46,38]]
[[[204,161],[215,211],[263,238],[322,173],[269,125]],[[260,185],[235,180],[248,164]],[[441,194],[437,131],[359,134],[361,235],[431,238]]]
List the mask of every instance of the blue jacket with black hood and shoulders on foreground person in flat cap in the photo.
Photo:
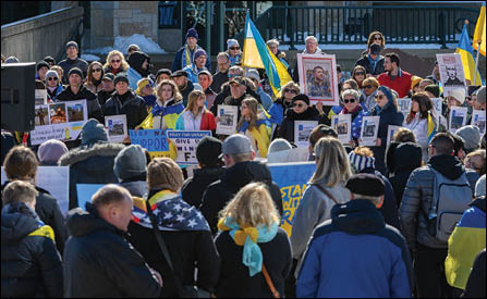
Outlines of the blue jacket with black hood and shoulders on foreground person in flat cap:
[[[357,249],[360,248],[360,249]],[[299,298],[411,297],[412,263],[404,238],[368,200],[331,209],[303,259]]]

